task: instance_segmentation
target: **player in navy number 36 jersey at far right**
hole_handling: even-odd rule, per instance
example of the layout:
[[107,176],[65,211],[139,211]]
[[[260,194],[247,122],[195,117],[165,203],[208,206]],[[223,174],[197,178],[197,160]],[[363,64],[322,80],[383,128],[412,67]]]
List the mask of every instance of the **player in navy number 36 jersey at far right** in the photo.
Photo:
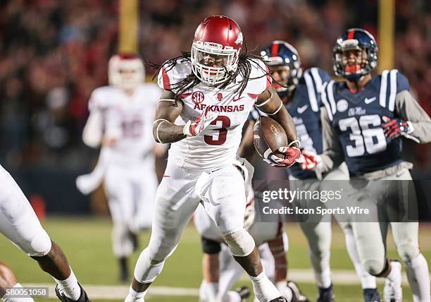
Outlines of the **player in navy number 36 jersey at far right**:
[[[322,91],[324,152],[320,156],[306,152],[309,164],[303,167],[325,172],[345,161],[351,179],[366,181],[357,200],[368,194],[380,210],[394,207],[399,181],[411,180],[412,166],[401,159],[401,138],[430,142],[431,119],[409,92],[403,74],[395,69],[371,74],[377,66],[377,44],[369,32],[347,30],[337,39],[333,53],[335,74],[345,81],[331,81]],[[406,265],[413,301],[430,301],[430,275],[419,250],[418,222],[391,222],[390,226]],[[401,265],[386,258],[388,223],[353,222],[352,227],[363,267],[377,277],[387,277],[385,301],[401,301]]]

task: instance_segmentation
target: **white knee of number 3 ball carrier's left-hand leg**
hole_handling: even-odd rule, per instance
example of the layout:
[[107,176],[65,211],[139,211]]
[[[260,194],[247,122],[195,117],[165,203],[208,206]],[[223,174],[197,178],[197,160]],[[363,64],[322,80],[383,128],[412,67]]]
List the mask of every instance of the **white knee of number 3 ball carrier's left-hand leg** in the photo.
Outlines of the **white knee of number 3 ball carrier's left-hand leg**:
[[149,257],[148,248],[146,248],[142,251],[141,255],[139,255],[139,258],[137,260],[134,273],[135,279],[137,279],[139,283],[154,282],[156,277],[163,270],[163,265],[165,265],[165,260],[157,261],[151,259]]

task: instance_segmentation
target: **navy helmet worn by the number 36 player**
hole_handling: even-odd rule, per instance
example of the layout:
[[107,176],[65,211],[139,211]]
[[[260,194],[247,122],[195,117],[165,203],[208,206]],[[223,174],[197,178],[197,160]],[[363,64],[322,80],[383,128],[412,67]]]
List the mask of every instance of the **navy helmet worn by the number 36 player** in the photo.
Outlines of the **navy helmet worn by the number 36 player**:
[[[362,63],[358,66],[349,66],[343,61],[343,52],[349,50],[361,50]],[[347,80],[359,80],[363,75],[371,73],[377,67],[377,43],[373,35],[361,28],[351,28],[337,38],[337,43],[332,50],[333,68],[335,75]]]

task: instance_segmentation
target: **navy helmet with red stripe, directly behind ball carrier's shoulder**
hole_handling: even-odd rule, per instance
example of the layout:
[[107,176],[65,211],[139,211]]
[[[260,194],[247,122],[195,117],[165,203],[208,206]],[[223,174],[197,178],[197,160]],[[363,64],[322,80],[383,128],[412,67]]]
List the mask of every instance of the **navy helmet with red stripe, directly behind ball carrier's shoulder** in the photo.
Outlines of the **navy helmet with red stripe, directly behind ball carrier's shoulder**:
[[273,87],[280,97],[291,93],[302,76],[301,60],[296,49],[285,41],[273,41],[261,52],[261,56],[271,69],[276,67],[287,69],[284,78],[273,81]]

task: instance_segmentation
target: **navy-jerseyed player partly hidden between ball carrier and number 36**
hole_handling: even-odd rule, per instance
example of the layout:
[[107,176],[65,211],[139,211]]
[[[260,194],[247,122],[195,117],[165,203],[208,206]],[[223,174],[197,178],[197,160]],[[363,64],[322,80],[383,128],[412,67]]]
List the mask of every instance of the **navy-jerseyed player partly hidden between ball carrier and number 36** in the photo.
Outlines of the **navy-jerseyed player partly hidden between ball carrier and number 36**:
[[[273,41],[270,46],[261,52],[261,56],[268,62],[270,74],[273,77],[273,87],[284,102],[287,111],[293,117],[296,131],[301,142],[302,150],[322,152],[322,126],[320,124],[320,90],[331,80],[330,75],[320,68],[309,68],[304,73],[301,60],[296,49],[287,42]],[[249,126],[244,135],[239,155],[246,158],[254,154],[253,126],[261,113],[258,109],[252,111]],[[248,138],[248,139],[247,139]],[[315,171],[306,171],[298,165],[286,170],[290,184],[301,190],[320,190],[322,175]],[[349,179],[345,164],[323,175],[323,179]],[[306,203],[301,200],[300,203]],[[308,203],[308,205],[316,203]],[[321,205],[321,204],[320,204]],[[298,206],[302,206],[299,204]],[[358,260],[356,246],[348,224],[340,223],[346,236],[346,247],[354,262],[358,276],[361,278],[364,300],[366,302],[379,301],[375,277],[365,272]],[[313,266],[316,285],[318,286],[318,302],[333,301],[332,280],[330,272],[330,243],[331,224],[330,216],[324,217],[320,222],[302,222],[302,231],[306,235],[309,246],[309,257]]]

